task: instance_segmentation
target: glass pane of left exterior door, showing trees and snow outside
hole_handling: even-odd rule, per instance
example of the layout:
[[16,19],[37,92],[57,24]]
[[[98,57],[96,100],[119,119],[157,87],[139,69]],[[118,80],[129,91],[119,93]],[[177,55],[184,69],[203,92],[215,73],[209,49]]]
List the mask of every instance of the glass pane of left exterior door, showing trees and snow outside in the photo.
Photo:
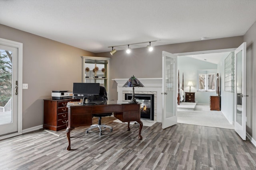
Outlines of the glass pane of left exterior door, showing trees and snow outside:
[[0,125],[12,123],[12,51],[0,49]]

